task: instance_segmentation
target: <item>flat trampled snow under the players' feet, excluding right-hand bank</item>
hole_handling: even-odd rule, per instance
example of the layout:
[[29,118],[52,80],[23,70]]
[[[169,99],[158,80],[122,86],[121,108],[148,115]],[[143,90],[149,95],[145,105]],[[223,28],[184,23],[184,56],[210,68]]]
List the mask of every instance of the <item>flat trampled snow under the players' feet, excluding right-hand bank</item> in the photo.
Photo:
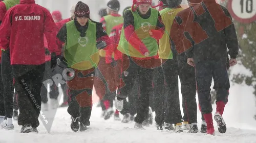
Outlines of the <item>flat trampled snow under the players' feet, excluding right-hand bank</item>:
[[[228,118],[228,117],[226,117]],[[38,134],[20,134],[20,127],[15,123],[14,131],[0,130],[0,142],[256,142],[256,130],[238,129],[232,127],[232,121],[227,120],[228,129],[225,134],[217,131],[216,136],[202,133],[188,134],[174,133],[172,131],[158,131],[154,126],[145,127],[146,130],[133,129],[134,123],[122,124],[110,118],[104,121],[100,118],[100,108],[93,108],[91,126],[85,132],[72,132],[70,129],[70,116],[66,108],[59,108],[51,129],[48,133],[42,124]]]

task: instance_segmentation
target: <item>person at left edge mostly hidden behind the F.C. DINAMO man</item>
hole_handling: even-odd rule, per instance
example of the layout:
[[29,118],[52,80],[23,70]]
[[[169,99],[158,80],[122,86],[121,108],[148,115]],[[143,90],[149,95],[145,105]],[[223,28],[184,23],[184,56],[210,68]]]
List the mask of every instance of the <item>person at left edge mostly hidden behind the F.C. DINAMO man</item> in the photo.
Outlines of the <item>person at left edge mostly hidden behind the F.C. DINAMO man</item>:
[[[0,25],[2,20],[6,14],[6,12],[13,6],[19,3],[19,0],[5,0],[0,2]],[[0,127],[2,129],[12,130],[14,126],[12,124],[13,116],[13,76],[12,76],[12,68],[10,63],[10,52],[9,51],[1,51],[2,52],[2,61],[1,63],[1,87],[2,89],[0,94]],[[16,111],[15,111],[16,112]],[[17,113],[17,112],[16,112]],[[6,116],[6,120],[4,120],[3,116]]]

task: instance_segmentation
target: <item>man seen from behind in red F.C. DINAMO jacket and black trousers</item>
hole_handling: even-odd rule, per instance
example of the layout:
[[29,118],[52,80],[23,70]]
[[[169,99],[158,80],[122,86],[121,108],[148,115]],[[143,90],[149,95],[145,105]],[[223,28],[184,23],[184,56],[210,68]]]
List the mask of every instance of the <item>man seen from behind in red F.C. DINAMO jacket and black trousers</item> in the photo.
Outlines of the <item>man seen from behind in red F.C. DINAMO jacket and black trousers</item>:
[[[10,49],[10,59],[18,93],[21,133],[38,132],[40,88],[45,70],[44,34],[52,53],[51,67],[56,66],[56,26],[51,13],[35,4],[34,0],[21,0],[7,11],[0,28],[0,46]],[[15,44],[14,44],[15,43]]]

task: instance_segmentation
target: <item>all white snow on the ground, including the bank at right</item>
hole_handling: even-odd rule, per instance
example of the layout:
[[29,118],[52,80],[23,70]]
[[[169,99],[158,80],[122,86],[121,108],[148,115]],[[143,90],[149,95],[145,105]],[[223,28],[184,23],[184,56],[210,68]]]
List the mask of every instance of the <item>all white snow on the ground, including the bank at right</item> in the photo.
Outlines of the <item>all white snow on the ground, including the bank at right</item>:
[[[238,66],[239,67],[239,66]],[[237,67],[237,68],[238,68]],[[239,68],[241,69],[241,68]],[[237,70],[237,69],[233,69]],[[174,133],[173,131],[156,130],[155,123],[146,130],[133,129],[134,122],[123,124],[114,121],[114,118],[105,121],[100,117],[101,108],[95,106],[92,110],[91,126],[85,132],[73,132],[70,129],[70,115],[67,108],[58,108],[50,133],[47,132],[42,122],[38,127],[38,134],[20,134],[20,126],[14,122],[14,131],[0,130],[0,143],[5,142],[256,142],[256,121],[253,119],[256,113],[255,98],[252,94],[253,89],[243,85],[232,85],[230,89],[229,103],[224,111],[224,119],[227,124],[227,132],[220,134],[215,124],[216,136],[205,135],[202,133],[188,134]],[[94,95],[95,96],[95,95]],[[180,97],[181,98],[181,97]],[[62,98],[60,98],[62,99]],[[214,112],[216,106],[213,106]],[[182,108],[181,108],[182,109]],[[121,116],[122,117],[122,116]],[[201,114],[198,111],[198,127],[201,127]]]

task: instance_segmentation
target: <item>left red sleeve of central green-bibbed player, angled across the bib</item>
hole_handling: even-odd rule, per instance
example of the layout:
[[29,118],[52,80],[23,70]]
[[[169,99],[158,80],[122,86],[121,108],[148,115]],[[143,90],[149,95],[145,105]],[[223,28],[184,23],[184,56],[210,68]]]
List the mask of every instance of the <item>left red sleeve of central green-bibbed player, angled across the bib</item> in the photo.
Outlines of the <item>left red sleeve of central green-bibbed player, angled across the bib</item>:
[[148,52],[145,44],[139,39],[138,35],[134,30],[134,26],[130,25],[124,28],[125,39],[142,55]]

